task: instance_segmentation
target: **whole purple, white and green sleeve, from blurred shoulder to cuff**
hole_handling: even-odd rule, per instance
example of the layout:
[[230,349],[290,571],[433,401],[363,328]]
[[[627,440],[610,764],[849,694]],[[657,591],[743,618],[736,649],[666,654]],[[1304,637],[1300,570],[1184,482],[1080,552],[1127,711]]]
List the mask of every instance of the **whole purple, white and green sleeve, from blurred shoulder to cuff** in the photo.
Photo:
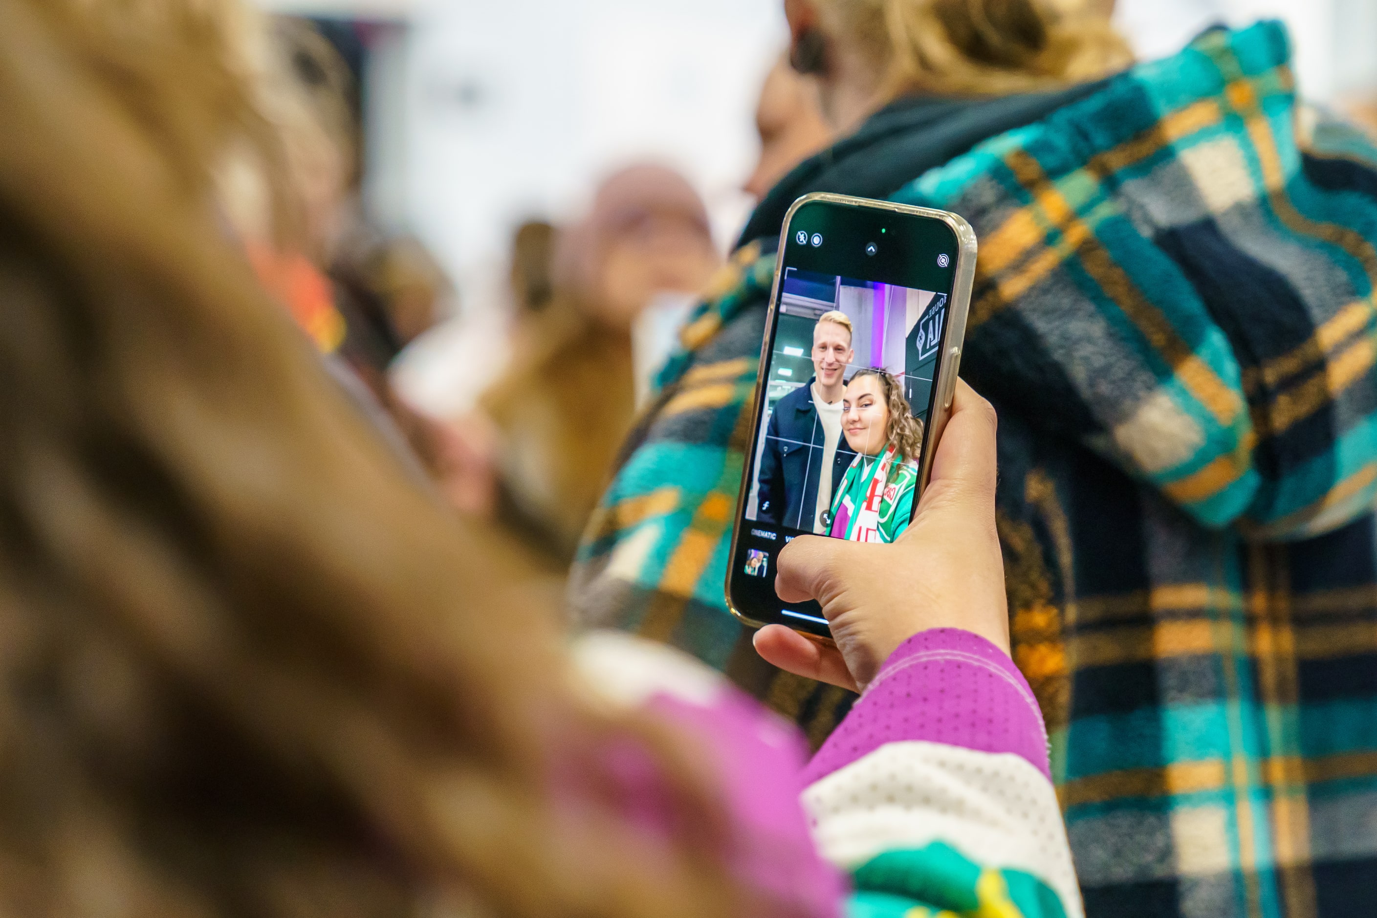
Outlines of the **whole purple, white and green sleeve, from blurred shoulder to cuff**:
[[[852,917],[1081,915],[1036,702],[982,639],[906,641],[801,776],[801,738],[697,662],[606,633],[585,636],[576,659],[609,701],[693,736],[720,775],[733,870],[796,914],[839,914],[840,868]],[[654,801],[657,780],[622,790]]]

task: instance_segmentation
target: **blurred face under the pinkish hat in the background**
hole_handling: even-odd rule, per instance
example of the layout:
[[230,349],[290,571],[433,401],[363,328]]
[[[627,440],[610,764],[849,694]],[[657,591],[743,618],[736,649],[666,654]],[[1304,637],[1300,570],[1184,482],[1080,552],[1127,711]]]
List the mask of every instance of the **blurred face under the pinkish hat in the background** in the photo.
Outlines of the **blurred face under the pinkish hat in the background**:
[[717,252],[701,227],[653,215],[618,235],[603,255],[599,319],[629,328],[657,293],[697,293],[717,268]]

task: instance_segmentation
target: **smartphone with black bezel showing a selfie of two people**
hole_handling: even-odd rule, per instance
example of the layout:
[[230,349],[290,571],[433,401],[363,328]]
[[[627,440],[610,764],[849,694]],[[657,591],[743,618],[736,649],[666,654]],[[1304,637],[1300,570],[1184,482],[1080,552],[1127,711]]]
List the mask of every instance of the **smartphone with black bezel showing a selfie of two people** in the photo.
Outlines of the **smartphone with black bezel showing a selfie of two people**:
[[956,213],[810,194],[789,209],[760,352],[727,608],[830,640],[775,595],[799,535],[892,542],[913,520],[952,409],[975,277]]

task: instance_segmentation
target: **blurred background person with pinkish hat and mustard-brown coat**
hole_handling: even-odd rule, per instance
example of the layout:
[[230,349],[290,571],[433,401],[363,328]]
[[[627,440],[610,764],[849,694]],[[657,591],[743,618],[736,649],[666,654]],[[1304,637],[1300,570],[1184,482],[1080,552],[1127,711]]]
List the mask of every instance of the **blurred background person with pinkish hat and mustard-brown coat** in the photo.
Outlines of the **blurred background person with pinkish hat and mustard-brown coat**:
[[697,191],[657,165],[607,179],[554,259],[548,301],[514,263],[518,296],[543,304],[519,311],[519,350],[481,405],[504,517],[567,562],[631,429],[632,329],[657,296],[704,289],[719,259]]

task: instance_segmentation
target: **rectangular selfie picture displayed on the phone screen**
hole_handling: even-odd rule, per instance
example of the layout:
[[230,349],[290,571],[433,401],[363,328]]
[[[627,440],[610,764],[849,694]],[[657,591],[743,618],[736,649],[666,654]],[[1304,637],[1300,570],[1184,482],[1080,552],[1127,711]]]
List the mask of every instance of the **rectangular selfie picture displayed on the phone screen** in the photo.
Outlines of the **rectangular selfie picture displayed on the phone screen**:
[[856,542],[909,527],[946,307],[945,293],[785,268],[748,520]]

